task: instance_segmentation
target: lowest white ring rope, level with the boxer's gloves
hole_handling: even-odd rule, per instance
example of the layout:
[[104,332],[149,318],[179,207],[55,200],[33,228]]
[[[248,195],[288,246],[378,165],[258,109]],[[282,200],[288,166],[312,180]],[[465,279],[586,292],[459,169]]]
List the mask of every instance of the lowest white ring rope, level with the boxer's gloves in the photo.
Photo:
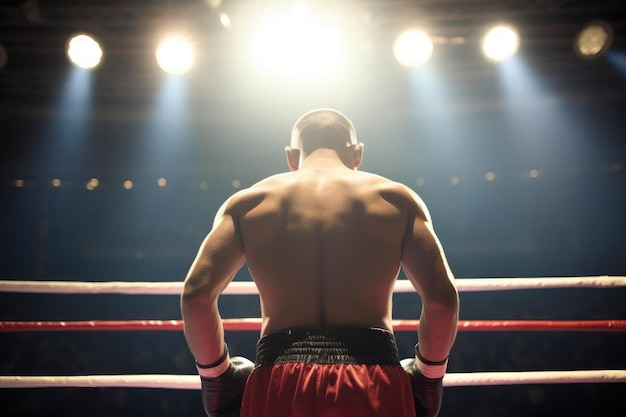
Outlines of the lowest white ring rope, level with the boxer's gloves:
[[[446,387],[626,382],[626,370],[450,373]],[[0,376],[0,388],[127,387],[200,389],[198,375]]]

